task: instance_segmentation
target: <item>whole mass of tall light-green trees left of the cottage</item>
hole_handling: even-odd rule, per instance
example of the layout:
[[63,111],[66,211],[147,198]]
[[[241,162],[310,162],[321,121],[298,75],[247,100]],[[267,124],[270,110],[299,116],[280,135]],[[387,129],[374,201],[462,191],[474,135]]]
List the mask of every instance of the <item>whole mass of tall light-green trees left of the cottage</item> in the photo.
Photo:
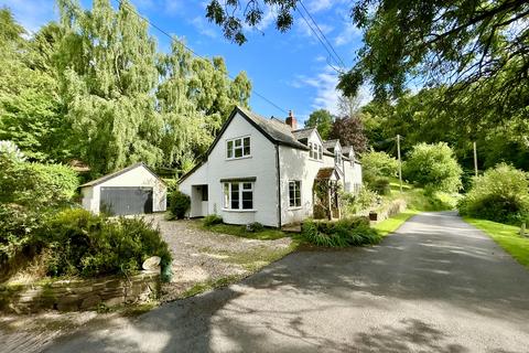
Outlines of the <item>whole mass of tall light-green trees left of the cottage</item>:
[[222,57],[194,57],[174,38],[160,52],[127,0],[89,10],[57,0],[58,23],[33,35],[0,10],[0,140],[30,160],[80,160],[94,176],[137,161],[188,170],[251,83]]

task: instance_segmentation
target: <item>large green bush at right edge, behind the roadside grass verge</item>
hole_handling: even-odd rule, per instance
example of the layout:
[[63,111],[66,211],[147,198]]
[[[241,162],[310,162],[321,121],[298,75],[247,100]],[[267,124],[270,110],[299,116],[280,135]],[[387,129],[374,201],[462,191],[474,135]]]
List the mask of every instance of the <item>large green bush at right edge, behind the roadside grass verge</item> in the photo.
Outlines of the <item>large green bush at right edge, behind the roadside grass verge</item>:
[[474,179],[457,206],[463,215],[519,225],[529,218],[529,174],[498,164]]

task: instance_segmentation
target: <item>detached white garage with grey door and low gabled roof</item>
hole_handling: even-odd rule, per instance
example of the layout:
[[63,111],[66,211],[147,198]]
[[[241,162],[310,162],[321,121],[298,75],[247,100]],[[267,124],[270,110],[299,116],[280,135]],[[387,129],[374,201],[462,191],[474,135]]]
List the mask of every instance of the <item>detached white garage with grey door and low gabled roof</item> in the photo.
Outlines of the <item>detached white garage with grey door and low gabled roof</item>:
[[144,163],[136,163],[80,185],[83,208],[131,215],[166,210],[168,186]]

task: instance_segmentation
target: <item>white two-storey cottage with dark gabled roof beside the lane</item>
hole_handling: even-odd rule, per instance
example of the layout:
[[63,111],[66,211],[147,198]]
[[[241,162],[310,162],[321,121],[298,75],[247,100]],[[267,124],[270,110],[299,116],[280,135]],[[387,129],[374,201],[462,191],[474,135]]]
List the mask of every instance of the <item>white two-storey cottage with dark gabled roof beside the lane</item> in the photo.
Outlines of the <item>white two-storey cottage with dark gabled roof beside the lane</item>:
[[352,147],[323,141],[292,116],[266,119],[236,107],[205,159],[180,181],[191,217],[218,214],[225,223],[280,227],[314,213],[315,183],[332,180],[347,192],[361,186]]

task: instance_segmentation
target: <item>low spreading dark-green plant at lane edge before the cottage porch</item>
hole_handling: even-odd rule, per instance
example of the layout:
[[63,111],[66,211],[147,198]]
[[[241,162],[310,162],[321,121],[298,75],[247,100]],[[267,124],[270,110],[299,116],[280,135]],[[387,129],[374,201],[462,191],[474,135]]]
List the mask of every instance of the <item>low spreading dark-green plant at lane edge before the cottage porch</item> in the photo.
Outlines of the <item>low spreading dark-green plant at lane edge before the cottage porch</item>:
[[380,236],[369,227],[366,217],[314,222],[307,220],[301,226],[301,236],[309,243],[326,247],[346,247],[377,244]]

